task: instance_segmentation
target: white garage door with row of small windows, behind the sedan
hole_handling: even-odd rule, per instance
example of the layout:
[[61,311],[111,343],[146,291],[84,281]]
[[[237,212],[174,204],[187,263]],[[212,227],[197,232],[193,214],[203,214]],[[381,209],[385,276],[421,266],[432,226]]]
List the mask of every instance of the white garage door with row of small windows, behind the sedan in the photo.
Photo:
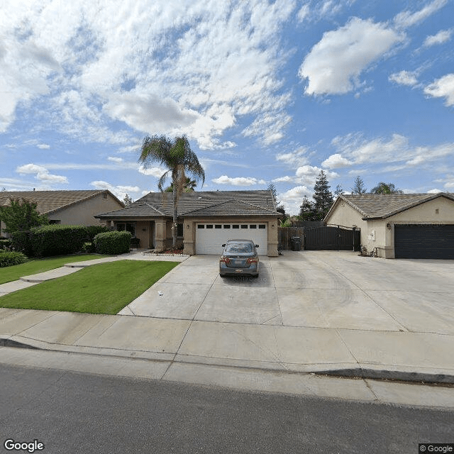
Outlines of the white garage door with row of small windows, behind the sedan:
[[221,254],[227,240],[253,240],[259,255],[268,254],[266,223],[197,223],[196,254]]

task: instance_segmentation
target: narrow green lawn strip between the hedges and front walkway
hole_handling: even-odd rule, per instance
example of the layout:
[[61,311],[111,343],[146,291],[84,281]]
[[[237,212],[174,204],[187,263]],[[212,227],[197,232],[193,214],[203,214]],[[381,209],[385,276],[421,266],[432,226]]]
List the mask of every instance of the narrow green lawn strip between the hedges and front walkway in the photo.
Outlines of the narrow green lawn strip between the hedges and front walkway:
[[84,262],[94,258],[109,257],[109,255],[99,254],[78,254],[78,255],[60,255],[59,257],[42,258],[31,260],[22,265],[0,268],[0,284],[5,282],[16,281],[19,277],[36,275],[38,272],[45,272],[62,267],[65,263]]

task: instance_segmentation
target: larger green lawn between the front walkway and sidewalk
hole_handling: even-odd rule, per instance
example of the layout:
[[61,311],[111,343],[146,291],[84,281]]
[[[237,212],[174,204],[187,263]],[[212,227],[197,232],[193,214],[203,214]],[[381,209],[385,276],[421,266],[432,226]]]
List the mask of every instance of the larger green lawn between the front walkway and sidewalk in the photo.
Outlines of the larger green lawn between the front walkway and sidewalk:
[[117,314],[179,262],[119,260],[91,265],[0,297],[15,309]]

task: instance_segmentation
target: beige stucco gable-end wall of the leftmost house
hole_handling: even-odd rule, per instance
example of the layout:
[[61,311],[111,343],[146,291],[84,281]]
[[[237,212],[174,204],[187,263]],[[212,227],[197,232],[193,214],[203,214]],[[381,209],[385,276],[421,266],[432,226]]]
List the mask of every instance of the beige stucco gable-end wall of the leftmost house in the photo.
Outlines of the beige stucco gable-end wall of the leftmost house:
[[48,218],[60,221],[62,225],[67,226],[96,226],[105,223],[101,219],[94,218],[96,214],[121,208],[123,208],[123,205],[119,204],[110,194],[107,194],[107,199],[104,199],[103,194],[100,193],[90,199],[48,214]]

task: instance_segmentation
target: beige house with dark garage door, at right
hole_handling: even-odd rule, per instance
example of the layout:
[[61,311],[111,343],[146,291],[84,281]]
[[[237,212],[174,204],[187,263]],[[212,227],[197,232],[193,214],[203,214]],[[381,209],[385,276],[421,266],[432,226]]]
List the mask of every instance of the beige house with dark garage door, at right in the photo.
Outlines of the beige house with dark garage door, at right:
[[341,195],[324,222],[359,227],[379,257],[454,259],[454,194]]

